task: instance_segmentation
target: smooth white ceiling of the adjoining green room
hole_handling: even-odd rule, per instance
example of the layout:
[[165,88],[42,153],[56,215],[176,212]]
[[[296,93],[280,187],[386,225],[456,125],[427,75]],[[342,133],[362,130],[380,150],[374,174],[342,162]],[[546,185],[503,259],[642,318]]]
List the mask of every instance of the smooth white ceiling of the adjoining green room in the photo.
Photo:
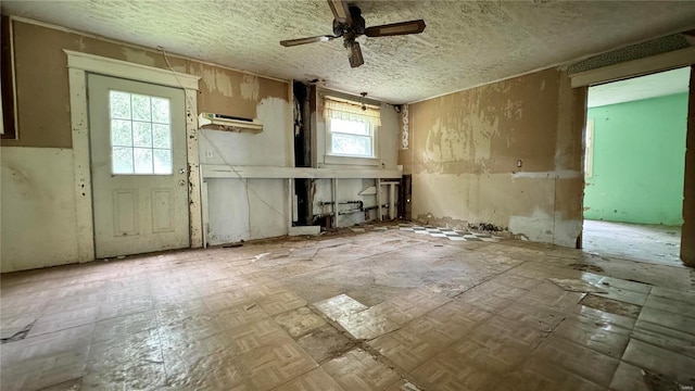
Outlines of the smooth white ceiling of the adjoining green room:
[[690,79],[691,68],[684,67],[590,87],[589,106],[595,108],[687,92]]

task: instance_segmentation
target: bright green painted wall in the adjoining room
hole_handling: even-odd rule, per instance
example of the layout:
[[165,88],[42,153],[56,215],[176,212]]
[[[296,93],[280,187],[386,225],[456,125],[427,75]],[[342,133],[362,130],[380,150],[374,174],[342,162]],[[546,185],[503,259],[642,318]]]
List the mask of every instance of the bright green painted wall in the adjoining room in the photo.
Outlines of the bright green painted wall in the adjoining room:
[[683,224],[687,93],[589,109],[594,167],[584,218]]

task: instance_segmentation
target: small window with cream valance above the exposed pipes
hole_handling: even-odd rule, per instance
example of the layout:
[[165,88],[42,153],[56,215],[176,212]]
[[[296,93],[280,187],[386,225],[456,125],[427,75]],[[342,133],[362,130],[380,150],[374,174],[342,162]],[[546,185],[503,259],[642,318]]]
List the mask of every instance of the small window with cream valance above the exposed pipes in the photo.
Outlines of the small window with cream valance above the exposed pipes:
[[380,108],[326,97],[327,154],[376,157],[376,130]]

